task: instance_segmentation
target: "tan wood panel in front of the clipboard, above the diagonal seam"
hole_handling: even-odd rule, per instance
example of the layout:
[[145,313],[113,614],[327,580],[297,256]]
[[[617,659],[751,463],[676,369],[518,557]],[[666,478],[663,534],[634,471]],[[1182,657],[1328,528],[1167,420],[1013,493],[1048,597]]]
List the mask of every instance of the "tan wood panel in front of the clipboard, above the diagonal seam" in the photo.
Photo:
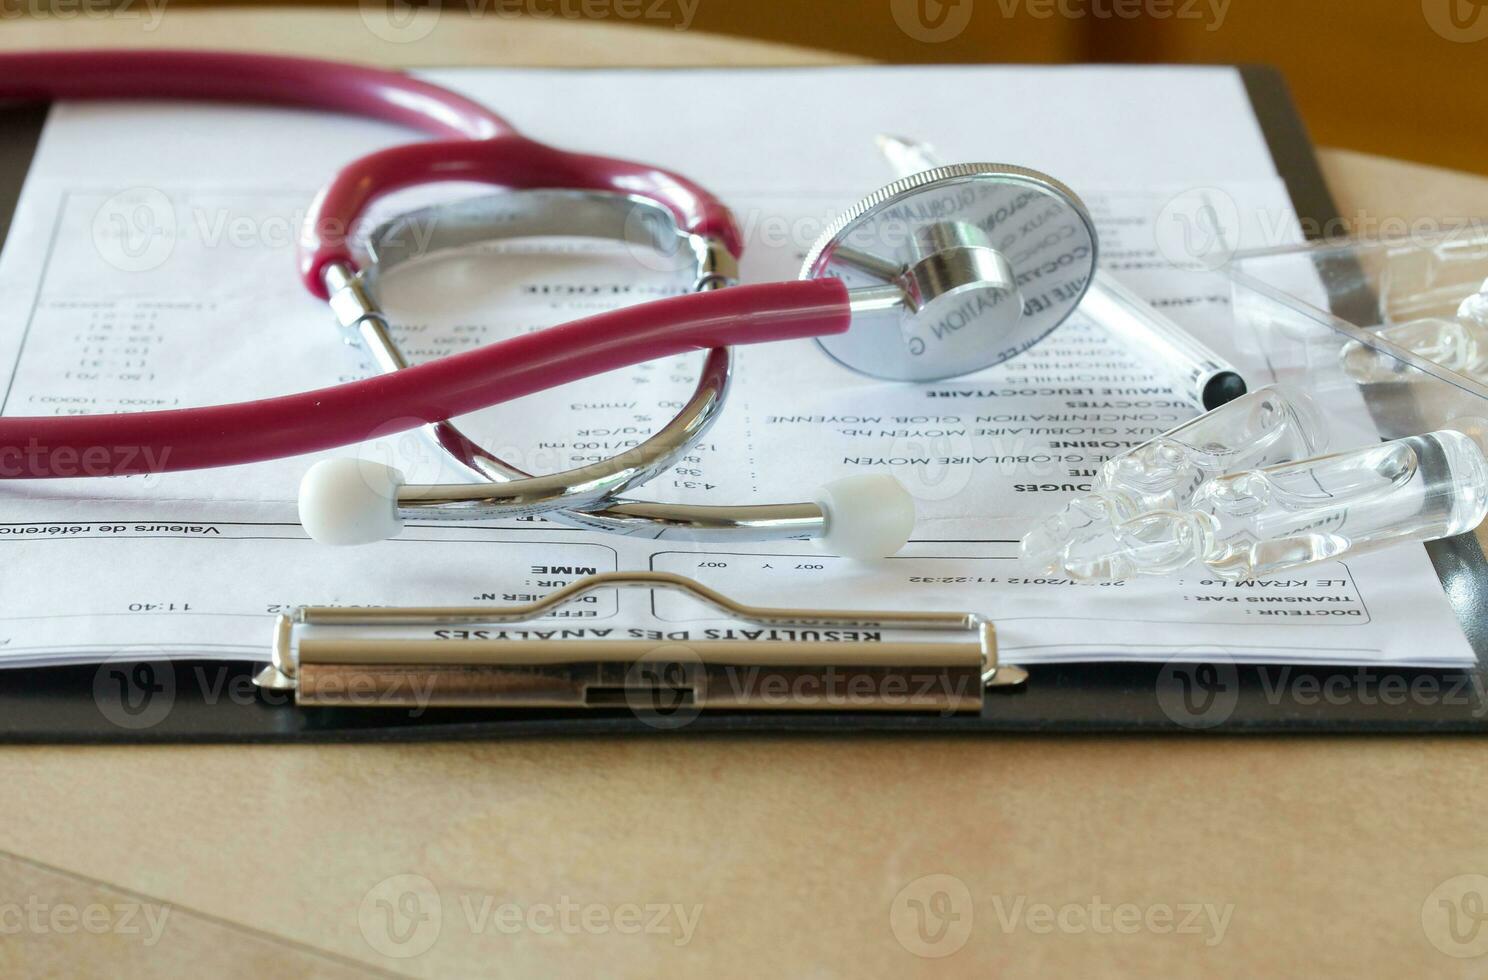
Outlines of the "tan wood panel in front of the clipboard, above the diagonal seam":
[[[1421,976],[1455,967],[1423,931],[1427,897],[1488,867],[1481,773],[1478,742],[1405,739],[7,749],[0,849],[243,923],[254,944],[418,976]],[[896,940],[890,909],[945,873],[973,931],[937,964]],[[440,929],[388,959],[359,912],[402,874],[437,888]],[[1213,946],[1213,931],[1004,931],[1019,897],[1232,912]],[[467,907],[487,900],[701,918],[684,943],[482,932]],[[201,928],[183,916],[161,946]]]

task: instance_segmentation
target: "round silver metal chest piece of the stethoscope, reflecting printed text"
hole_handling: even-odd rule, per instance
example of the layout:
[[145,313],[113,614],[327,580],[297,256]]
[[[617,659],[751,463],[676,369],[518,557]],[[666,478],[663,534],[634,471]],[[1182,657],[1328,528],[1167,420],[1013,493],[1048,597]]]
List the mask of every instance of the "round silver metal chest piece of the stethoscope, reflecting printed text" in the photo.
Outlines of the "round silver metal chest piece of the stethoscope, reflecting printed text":
[[1000,364],[1079,306],[1095,226],[1073,190],[1001,164],[937,167],[836,219],[801,278],[841,278],[853,326],[821,348],[865,375],[939,381]]

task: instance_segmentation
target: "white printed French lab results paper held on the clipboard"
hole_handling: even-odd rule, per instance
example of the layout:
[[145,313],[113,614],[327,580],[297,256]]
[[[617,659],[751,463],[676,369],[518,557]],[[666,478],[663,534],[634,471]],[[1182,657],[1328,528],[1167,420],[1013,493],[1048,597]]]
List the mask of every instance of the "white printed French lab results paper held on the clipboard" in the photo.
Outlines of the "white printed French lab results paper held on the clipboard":
[[[745,281],[795,278],[830,217],[893,177],[873,146],[879,132],[927,140],[946,161],[1045,170],[1089,204],[1107,269],[1231,355],[1253,385],[1269,381],[1251,338],[1232,324],[1228,293],[1174,265],[1159,223],[1174,201],[1210,195],[1225,204],[1217,211],[1235,245],[1301,238],[1234,70],[430,77],[543,141],[652,161],[707,184],[744,228]],[[338,167],[411,138],[277,109],[58,106],[0,256],[0,412],[185,407],[372,373],[301,287],[293,242]],[[379,213],[478,192],[403,193]],[[405,349],[427,360],[683,287],[620,248],[565,242],[423,263],[390,275],[382,299]],[[461,424],[522,468],[568,468],[655,431],[699,364],[701,355],[638,364]],[[1196,410],[1140,351],[1080,317],[1007,364],[948,382],[857,376],[811,342],[740,348],[735,378],[722,421],[632,495],[792,503],[839,476],[887,470],[920,510],[903,553],[869,567],[811,543],[622,538],[543,520],[420,523],[391,541],[329,549],[296,520],[314,457],[0,480],[0,666],[121,651],[265,659],[269,616],[292,605],[500,605],[619,570],[680,573],[756,605],[975,610],[997,622],[1003,657],[1016,663],[1473,660],[1420,546],[1242,584],[1187,573],[1077,586],[1021,567],[1016,540],[1034,518],[1086,489],[1107,457]],[[1373,436],[1362,406],[1333,421],[1339,448]],[[418,431],[327,455],[356,454],[412,482],[464,482]],[[647,592],[598,593],[524,631],[772,638]]]

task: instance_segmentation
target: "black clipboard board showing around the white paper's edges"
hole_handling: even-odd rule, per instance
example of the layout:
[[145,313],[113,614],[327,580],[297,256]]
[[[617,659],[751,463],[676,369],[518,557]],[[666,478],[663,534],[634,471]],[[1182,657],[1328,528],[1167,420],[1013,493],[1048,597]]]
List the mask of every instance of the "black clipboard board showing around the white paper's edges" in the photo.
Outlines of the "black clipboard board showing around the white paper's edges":
[[[1241,79],[1308,228],[1338,208],[1286,80]],[[46,107],[0,112],[0,241],[46,120]],[[402,742],[554,735],[680,733],[1469,733],[1488,732],[1488,561],[1473,535],[1426,546],[1478,656],[1472,671],[1052,665],[1025,689],[990,693],[981,715],[701,712],[658,726],[628,711],[298,709],[251,686],[259,665],[174,660],[0,671],[0,742]],[[268,641],[268,620],[262,629]]]

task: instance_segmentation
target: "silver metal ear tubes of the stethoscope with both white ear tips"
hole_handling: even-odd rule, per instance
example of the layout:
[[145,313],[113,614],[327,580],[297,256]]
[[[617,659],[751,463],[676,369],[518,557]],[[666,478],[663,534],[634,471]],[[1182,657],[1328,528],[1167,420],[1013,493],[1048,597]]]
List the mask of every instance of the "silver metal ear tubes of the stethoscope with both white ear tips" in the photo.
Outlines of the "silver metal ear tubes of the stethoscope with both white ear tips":
[[[482,242],[577,235],[680,254],[693,288],[725,288],[737,263],[717,239],[680,229],[662,207],[629,195],[524,190],[470,198],[402,214],[372,232],[362,272],[326,268],[326,290],[342,338],[365,349],[382,373],[408,367],[375,296],[381,277]],[[897,306],[899,293],[893,303]],[[638,446],[562,473],[534,476],[484,449],[454,422],[426,427],[472,483],[408,485],[397,470],[369,460],[327,460],[301,485],[307,532],[323,544],[369,544],[408,520],[491,520],[543,516],[588,531],[693,541],[820,540],[839,555],[876,559],[897,552],[914,529],[914,500],[887,474],[818,488],[815,498],[783,504],[670,504],[619,497],[671,468],[717,419],[732,381],[728,348],[708,351],[692,396]]]

